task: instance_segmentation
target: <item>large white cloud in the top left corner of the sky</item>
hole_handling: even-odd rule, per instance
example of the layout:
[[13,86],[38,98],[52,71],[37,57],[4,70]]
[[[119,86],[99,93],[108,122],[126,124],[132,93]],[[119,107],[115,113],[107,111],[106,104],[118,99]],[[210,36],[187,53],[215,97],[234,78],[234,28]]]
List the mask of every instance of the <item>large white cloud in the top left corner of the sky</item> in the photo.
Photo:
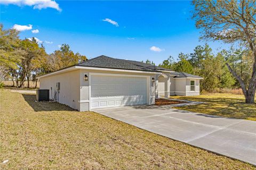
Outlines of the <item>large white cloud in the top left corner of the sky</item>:
[[1,4],[4,5],[18,5],[18,6],[33,6],[34,9],[45,9],[47,7],[54,8],[58,11],[61,11],[59,4],[52,0],[2,0]]

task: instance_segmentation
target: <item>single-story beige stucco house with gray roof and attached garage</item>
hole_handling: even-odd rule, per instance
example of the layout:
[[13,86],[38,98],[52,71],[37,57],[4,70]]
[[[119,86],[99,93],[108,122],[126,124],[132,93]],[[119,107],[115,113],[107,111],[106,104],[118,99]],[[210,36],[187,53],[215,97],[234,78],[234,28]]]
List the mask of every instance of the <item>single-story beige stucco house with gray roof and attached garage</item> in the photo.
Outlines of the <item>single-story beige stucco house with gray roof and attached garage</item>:
[[78,111],[139,104],[155,98],[199,95],[196,75],[137,61],[99,56],[38,77],[50,99]]

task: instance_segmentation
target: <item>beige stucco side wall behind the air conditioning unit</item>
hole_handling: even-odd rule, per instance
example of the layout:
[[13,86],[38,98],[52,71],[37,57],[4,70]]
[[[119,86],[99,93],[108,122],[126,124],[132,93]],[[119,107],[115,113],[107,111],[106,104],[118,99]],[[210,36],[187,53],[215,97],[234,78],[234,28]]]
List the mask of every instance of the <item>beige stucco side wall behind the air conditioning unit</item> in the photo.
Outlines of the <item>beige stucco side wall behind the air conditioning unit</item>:
[[39,89],[50,90],[50,99],[54,98],[54,94],[57,92],[56,83],[60,82],[59,103],[68,105],[71,108],[79,110],[79,70],[60,73],[57,75],[50,75],[49,77],[40,78],[39,81]]

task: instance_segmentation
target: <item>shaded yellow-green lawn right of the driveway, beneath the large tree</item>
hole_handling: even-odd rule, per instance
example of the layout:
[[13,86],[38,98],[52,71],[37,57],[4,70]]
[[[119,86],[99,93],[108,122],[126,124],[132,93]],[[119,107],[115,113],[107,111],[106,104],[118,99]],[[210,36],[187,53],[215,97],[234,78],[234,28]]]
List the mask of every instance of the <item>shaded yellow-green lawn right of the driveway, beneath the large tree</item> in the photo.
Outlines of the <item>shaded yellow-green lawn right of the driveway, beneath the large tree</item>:
[[199,105],[174,107],[177,109],[256,121],[256,104],[245,104],[243,95],[217,93],[200,96],[171,96],[171,98],[205,102]]

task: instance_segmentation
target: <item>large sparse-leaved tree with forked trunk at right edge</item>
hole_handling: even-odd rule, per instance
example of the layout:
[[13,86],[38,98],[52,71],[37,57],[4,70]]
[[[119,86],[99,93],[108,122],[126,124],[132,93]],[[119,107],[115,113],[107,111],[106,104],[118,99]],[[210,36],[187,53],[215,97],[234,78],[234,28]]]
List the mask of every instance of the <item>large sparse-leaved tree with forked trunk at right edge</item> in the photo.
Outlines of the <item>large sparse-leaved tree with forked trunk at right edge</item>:
[[256,90],[256,2],[253,1],[207,1],[194,0],[193,19],[196,28],[202,29],[201,39],[221,40],[225,43],[240,43],[250,49],[253,69],[249,86],[226,63],[229,71],[241,85],[245,103],[254,103]]

